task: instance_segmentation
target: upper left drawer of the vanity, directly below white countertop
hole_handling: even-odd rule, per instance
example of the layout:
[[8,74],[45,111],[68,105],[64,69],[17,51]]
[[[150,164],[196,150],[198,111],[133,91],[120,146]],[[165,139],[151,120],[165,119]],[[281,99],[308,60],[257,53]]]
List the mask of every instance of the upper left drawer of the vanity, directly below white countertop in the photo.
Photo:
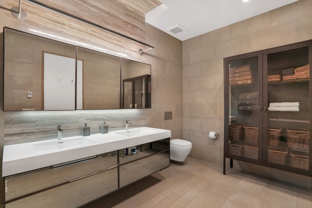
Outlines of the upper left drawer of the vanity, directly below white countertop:
[[5,201],[42,189],[50,189],[95,172],[117,166],[117,156],[110,153],[83,158],[47,168],[32,170],[5,177],[7,193]]

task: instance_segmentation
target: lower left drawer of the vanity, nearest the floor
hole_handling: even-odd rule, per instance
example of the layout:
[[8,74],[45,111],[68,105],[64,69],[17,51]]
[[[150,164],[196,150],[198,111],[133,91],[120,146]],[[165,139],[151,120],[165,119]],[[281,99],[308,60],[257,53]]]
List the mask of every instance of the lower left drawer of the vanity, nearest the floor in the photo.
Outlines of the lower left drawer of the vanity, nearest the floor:
[[6,208],[77,208],[118,189],[117,168],[7,203]]

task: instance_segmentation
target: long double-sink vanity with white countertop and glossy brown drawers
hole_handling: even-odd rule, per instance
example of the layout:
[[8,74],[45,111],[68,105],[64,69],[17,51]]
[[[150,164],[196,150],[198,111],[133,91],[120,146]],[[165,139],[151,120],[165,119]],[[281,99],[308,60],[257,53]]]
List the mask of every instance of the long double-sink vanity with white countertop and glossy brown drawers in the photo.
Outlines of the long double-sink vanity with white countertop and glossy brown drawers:
[[6,208],[82,206],[168,168],[170,137],[143,127],[4,146]]

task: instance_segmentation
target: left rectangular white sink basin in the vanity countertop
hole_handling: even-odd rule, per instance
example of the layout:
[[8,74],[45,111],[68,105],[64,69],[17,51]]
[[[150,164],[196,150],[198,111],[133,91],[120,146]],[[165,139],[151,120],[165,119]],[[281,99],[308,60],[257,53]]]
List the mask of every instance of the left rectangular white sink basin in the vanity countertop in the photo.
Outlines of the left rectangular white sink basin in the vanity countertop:
[[40,151],[63,149],[63,148],[77,146],[77,145],[87,145],[87,144],[92,144],[92,143],[95,143],[95,141],[92,141],[91,139],[88,139],[86,137],[78,137],[78,138],[71,138],[71,139],[47,141],[47,142],[43,142],[39,144],[33,144],[33,146],[37,152],[40,152]]

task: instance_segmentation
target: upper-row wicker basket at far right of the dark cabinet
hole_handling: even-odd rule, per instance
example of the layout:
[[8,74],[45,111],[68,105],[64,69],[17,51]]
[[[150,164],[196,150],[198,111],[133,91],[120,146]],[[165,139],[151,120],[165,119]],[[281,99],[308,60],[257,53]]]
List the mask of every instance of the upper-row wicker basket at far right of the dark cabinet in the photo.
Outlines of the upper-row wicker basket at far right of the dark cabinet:
[[290,148],[308,149],[310,132],[309,131],[295,131],[287,130],[287,145]]

